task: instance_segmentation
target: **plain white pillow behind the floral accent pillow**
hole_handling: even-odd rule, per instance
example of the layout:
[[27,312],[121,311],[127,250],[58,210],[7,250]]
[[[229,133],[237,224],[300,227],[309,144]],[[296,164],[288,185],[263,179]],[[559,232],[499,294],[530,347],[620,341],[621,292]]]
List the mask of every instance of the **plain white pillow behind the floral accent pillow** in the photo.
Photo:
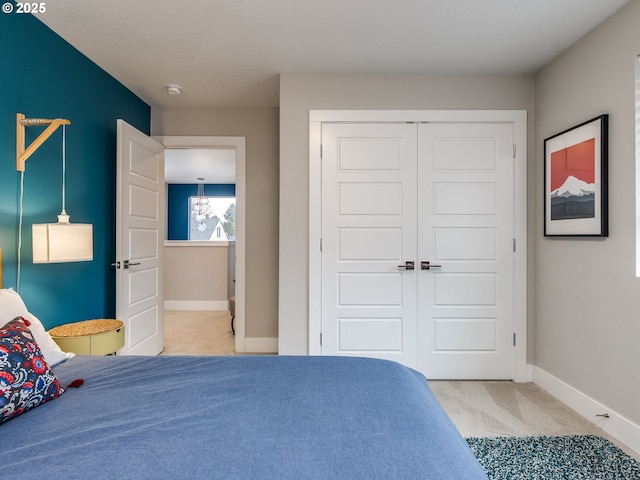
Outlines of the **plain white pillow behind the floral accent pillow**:
[[29,330],[33,333],[36,343],[50,367],[75,355],[75,353],[66,353],[60,349],[44,329],[42,322],[27,310],[27,306],[18,292],[11,288],[0,289],[0,326],[4,326],[16,317],[24,317],[31,322]]

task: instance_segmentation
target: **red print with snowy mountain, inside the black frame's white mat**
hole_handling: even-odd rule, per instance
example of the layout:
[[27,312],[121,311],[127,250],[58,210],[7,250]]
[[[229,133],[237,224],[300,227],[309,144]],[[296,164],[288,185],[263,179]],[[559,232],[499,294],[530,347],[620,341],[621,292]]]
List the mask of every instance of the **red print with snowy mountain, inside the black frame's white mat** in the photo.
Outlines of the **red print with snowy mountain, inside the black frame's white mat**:
[[596,139],[551,153],[551,220],[595,217]]

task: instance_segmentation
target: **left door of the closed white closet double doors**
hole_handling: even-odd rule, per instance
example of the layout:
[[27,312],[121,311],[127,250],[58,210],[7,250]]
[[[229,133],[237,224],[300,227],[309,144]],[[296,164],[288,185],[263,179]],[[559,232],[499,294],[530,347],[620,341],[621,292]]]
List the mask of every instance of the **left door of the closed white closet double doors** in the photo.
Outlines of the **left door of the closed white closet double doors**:
[[322,127],[322,354],[417,366],[414,125]]

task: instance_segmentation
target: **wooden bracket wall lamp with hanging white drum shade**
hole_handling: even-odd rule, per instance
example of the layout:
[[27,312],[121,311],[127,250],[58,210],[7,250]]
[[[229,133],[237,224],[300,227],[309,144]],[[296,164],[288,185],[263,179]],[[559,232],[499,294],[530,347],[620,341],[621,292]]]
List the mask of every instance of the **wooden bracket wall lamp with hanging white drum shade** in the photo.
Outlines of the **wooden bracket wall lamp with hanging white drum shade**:
[[[62,126],[62,211],[57,223],[34,224],[32,226],[33,263],[82,262],[93,260],[93,226],[70,223],[65,211],[66,177],[66,125],[69,120],[58,118],[25,118],[16,116],[16,168],[24,175],[27,159]],[[25,148],[25,127],[43,126],[47,128]],[[21,195],[22,197],[22,195]],[[22,207],[21,207],[22,210]],[[19,280],[18,280],[19,283]]]

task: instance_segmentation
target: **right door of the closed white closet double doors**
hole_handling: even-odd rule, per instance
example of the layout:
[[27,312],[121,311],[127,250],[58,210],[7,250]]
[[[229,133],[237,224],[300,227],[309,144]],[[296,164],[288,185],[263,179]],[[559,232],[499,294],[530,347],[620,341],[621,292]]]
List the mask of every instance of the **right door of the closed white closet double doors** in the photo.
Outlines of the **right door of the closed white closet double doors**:
[[513,144],[510,124],[419,127],[418,366],[428,378],[514,376]]

